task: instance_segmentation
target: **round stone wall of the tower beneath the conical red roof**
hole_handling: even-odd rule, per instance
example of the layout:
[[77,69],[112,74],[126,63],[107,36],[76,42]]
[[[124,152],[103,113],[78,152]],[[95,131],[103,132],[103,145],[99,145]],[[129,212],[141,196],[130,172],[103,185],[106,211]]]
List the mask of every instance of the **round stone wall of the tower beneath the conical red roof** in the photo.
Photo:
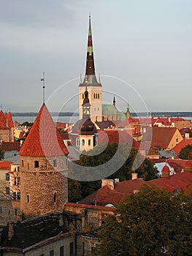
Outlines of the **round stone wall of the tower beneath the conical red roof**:
[[[53,159],[57,159],[55,168]],[[35,167],[35,161],[39,162],[39,167]],[[23,214],[42,215],[63,210],[68,199],[64,167],[65,157],[49,160],[46,157],[20,157],[20,208]]]

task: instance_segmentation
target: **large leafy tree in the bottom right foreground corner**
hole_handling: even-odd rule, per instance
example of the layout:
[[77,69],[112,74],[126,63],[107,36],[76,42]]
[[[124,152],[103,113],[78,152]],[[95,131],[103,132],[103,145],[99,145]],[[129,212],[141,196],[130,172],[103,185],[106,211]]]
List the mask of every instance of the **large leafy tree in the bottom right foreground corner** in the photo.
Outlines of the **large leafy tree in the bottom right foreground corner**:
[[95,255],[192,255],[192,195],[144,186],[99,231]]

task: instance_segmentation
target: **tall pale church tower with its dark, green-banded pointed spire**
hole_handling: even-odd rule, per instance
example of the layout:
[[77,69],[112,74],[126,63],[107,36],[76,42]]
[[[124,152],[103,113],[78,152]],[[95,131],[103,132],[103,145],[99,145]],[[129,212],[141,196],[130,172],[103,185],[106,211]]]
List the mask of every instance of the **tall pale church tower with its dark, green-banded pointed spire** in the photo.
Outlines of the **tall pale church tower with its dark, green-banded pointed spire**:
[[[99,81],[100,82],[100,81]],[[82,103],[85,97],[85,91],[88,91],[91,104],[91,121],[101,121],[102,116],[102,86],[96,79],[95,64],[93,57],[93,40],[91,31],[91,15],[89,15],[88,28],[88,50],[85,67],[85,78],[79,85],[79,110],[80,119],[82,118]]]

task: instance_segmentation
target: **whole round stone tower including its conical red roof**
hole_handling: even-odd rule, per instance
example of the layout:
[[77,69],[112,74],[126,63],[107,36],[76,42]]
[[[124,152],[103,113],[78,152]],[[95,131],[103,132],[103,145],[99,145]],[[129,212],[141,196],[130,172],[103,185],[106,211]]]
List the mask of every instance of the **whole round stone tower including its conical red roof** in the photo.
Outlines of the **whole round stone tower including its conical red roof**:
[[68,200],[67,154],[45,103],[20,148],[20,209],[26,216],[62,211]]

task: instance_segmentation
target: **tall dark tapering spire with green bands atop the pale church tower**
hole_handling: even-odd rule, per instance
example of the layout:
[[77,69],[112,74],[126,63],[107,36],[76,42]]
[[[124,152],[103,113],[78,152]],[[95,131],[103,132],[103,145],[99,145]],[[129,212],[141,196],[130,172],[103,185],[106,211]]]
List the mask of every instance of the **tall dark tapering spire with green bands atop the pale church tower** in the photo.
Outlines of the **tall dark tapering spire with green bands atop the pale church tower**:
[[91,14],[89,14],[89,28],[88,28],[88,51],[85,69],[85,79],[83,83],[98,83],[96,80],[95,64],[93,57],[93,42],[91,32]]

